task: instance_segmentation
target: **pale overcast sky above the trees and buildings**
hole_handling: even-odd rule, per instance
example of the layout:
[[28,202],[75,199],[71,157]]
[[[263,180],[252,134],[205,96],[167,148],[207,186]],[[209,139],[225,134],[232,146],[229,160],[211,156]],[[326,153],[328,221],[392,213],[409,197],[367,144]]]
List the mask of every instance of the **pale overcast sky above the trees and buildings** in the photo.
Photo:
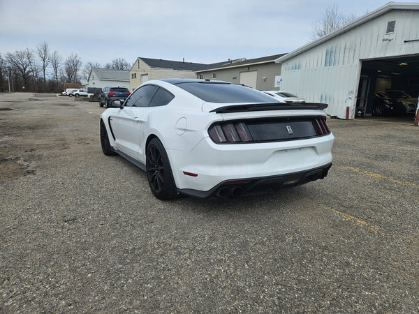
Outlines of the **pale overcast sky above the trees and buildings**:
[[[418,2],[405,0],[404,2]],[[137,57],[214,63],[291,52],[326,8],[357,17],[383,0],[0,0],[0,54],[45,41],[102,66]]]

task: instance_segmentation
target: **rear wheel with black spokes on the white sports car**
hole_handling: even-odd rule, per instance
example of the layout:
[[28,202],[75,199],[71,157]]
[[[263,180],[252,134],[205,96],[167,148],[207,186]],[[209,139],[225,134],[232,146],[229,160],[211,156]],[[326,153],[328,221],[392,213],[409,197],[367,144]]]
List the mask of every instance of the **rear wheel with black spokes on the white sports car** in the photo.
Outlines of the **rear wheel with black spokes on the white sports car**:
[[154,196],[160,200],[170,200],[177,195],[168,154],[157,138],[152,139],[147,146],[145,167]]

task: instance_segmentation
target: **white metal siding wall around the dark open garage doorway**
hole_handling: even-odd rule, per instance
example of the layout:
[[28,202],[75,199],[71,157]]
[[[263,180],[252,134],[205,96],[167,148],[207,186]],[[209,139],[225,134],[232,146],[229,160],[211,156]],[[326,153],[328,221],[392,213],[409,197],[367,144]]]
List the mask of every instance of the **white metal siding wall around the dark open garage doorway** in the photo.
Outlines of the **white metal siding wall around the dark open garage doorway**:
[[[395,32],[386,34],[387,22],[392,20],[396,21]],[[418,38],[418,11],[390,11],[284,61],[281,68],[281,90],[304,97],[310,102],[328,103],[325,111],[341,119],[346,118],[346,107],[351,107],[353,117],[360,60],[418,54],[419,41],[404,43],[404,40]],[[332,58],[330,61],[336,65],[325,66],[326,51],[331,48],[335,49],[338,61],[336,64]],[[304,67],[291,70],[293,64],[298,62],[304,64]]]

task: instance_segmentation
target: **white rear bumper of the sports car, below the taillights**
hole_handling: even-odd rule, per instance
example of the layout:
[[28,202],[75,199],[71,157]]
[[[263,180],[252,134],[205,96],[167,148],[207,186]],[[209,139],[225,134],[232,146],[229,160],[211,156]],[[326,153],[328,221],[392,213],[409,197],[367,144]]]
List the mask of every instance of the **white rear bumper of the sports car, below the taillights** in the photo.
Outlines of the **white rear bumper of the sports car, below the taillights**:
[[[305,140],[223,145],[214,144],[205,137],[191,151],[166,151],[178,190],[207,197],[223,184],[230,185],[235,181],[250,180],[255,186],[264,186],[272,179],[272,186],[283,188],[312,181],[307,179],[315,177],[311,172],[323,172],[325,167],[330,167],[333,140],[330,134]],[[325,174],[316,179],[325,177]],[[243,193],[258,190],[249,186],[243,189]]]

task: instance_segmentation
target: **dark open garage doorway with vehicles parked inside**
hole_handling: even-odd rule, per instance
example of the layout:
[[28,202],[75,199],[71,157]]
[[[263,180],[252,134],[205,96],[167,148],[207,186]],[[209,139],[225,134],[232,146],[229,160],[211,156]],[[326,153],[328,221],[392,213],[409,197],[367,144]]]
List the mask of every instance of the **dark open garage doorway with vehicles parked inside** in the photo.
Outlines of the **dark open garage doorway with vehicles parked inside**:
[[419,54],[362,61],[357,112],[366,116],[414,115],[419,94]]

